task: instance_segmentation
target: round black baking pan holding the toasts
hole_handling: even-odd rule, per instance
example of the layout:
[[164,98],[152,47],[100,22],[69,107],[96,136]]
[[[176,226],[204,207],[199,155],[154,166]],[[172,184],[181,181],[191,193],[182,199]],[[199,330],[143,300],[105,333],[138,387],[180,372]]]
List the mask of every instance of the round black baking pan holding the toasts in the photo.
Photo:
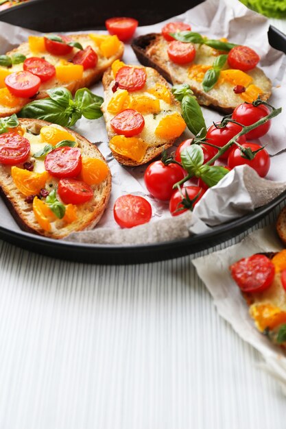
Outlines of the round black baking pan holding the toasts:
[[[140,25],[151,25],[181,14],[201,2],[181,0],[168,3],[167,8],[151,0],[142,3],[109,0],[108,8],[104,8],[93,0],[30,0],[0,12],[0,21],[40,32],[104,29],[104,21],[110,16],[132,16],[139,20]],[[268,37],[270,45],[286,53],[286,36],[283,33],[270,26]],[[257,223],[285,198],[286,192],[250,215],[219,225],[211,232],[153,245],[68,243],[3,227],[0,227],[0,238],[32,252],[75,262],[105,265],[155,262],[193,254],[229,240]]]

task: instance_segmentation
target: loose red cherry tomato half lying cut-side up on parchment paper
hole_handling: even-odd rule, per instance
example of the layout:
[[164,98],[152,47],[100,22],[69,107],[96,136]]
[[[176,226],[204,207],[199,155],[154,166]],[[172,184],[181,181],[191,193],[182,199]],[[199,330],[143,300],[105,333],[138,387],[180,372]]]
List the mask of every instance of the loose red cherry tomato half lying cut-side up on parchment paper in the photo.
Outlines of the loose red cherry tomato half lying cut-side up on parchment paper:
[[115,221],[121,228],[132,228],[150,221],[152,207],[147,199],[137,195],[122,195],[113,208]]

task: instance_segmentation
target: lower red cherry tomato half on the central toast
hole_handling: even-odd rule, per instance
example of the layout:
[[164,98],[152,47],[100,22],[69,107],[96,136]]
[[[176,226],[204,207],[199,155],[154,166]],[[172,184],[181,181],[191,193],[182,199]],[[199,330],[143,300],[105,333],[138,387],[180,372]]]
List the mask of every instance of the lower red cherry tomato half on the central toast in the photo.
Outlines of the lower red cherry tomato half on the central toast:
[[145,121],[141,113],[133,109],[126,109],[112,118],[110,125],[117,134],[132,137],[141,133]]

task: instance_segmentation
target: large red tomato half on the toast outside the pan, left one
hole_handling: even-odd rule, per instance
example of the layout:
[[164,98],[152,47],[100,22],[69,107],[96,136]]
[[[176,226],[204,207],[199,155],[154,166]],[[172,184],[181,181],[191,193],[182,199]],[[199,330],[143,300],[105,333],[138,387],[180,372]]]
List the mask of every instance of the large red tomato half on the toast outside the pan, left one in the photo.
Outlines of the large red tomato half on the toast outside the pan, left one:
[[256,254],[230,265],[230,273],[243,292],[263,292],[274,280],[275,267],[265,255]]

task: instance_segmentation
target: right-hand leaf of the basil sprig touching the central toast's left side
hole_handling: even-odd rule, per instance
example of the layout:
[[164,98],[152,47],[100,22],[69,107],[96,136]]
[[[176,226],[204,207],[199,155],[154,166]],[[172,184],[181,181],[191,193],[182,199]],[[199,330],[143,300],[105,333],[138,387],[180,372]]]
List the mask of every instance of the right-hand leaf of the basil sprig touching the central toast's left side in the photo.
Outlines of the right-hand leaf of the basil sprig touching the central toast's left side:
[[75,93],[75,103],[82,111],[86,119],[98,119],[102,117],[100,106],[104,99],[93,94],[88,88],[82,88]]

